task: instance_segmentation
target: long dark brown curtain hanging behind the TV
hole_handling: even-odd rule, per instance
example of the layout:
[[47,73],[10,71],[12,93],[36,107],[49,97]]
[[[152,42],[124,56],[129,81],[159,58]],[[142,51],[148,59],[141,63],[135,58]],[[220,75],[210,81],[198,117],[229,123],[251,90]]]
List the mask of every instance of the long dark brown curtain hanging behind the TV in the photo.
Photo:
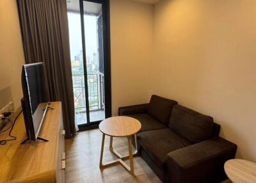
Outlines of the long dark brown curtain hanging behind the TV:
[[61,101],[66,137],[76,134],[66,0],[17,0],[26,63],[44,62],[51,101]]

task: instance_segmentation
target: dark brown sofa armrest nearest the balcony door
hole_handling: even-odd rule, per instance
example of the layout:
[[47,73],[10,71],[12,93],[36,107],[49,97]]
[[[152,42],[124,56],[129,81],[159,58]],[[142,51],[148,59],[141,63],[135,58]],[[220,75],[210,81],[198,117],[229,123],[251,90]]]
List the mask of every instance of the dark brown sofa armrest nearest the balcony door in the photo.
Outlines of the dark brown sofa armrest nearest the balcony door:
[[132,115],[132,114],[138,114],[138,113],[147,113],[149,104],[138,104],[134,106],[125,106],[125,107],[119,107],[118,108],[118,115]]

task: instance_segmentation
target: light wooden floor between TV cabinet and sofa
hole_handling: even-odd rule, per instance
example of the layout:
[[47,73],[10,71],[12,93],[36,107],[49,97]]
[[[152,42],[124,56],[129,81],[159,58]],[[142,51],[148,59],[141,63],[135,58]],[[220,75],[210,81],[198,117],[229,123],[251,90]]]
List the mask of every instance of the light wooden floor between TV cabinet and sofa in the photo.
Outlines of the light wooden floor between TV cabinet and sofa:
[[[65,182],[161,182],[147,163],[134,157],[134,175],[121,164],[104,170],[99,169],[102,133],[99,129],[79,132],[74,139],[65,139]],[[127,138],[113,138],[113,148],[121,155],[128,154]],[[103,163],[116,159],[109,152],[109,137],[106,136]],[[125,161],[129,164],[129,160]]]

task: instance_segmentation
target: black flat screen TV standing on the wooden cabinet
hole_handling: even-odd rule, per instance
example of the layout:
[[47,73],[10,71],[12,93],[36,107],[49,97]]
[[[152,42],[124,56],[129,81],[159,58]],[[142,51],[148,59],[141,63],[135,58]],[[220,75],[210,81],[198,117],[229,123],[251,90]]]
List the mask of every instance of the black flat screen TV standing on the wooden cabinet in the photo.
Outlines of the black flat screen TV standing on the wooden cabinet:
[[[44,63],[26,64],[22,67],[22,111],[28,139],[40,138],[40,129],[49,107],[48,87],[45,79]],[[26,139],[23,143],[25,143]]]

